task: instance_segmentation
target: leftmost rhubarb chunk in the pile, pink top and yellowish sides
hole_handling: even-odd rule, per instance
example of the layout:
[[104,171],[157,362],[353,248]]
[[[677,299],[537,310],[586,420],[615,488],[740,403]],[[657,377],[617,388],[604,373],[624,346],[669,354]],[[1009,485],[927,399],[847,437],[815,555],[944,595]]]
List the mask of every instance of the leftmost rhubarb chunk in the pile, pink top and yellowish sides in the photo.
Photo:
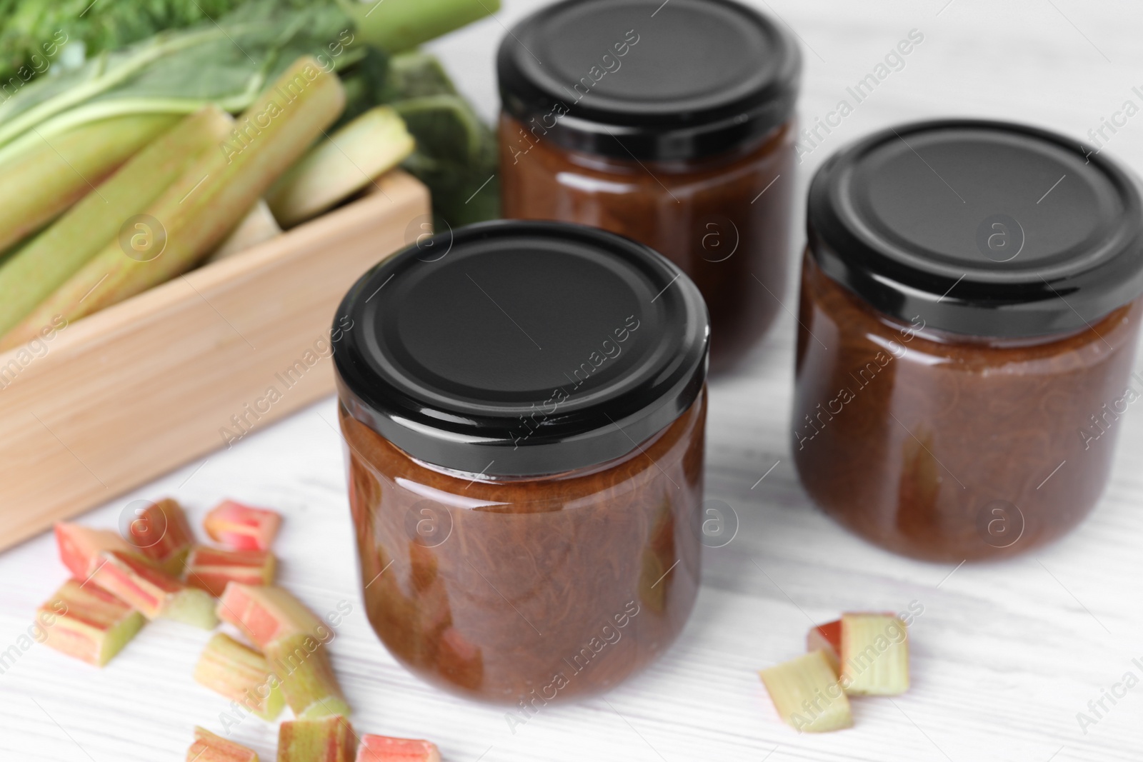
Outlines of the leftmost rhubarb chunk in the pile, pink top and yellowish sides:
[[50,648],[102,667],[135,637],[143,615],[94,583],[69,579],[37,612]]

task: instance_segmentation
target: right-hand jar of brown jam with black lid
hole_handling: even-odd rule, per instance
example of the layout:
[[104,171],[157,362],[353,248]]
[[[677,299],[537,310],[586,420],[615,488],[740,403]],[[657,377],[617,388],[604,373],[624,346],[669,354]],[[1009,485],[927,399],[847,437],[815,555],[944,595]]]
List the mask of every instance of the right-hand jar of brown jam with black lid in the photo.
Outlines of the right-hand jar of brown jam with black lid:
[[1140,185],[1040,129],[890,128],[809,191],[793,451],[885,548],[959,562],[1056,539],[1108,481],[1143,292]]

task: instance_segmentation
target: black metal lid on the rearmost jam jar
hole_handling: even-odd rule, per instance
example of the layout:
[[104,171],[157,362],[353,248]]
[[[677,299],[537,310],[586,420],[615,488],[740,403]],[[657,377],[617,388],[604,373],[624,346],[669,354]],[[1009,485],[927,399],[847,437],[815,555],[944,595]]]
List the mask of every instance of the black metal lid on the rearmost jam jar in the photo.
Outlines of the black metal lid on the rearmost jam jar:
[[566,0],[501,42],[504,110],[536,137],[629,159],[694,159],[793,113],[801,55],[733,0]]

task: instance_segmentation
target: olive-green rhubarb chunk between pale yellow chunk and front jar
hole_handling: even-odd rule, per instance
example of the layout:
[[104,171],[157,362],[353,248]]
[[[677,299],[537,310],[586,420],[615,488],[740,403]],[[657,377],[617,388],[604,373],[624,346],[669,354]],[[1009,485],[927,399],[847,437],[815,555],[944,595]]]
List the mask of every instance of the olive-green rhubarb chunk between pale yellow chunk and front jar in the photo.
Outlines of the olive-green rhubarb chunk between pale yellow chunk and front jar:
[[286,703],[301,719],[349,715],[325,644],[311,635],[287,635],[266,645],[266,660],[281,682]]

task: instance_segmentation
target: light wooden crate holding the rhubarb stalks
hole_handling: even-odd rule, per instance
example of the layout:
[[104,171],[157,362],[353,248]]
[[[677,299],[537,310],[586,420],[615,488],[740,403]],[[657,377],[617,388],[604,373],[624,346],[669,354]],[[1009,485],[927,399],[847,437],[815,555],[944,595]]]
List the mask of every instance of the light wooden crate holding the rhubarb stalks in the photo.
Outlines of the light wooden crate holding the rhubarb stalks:
[[391,173],[359,201],[0,354],[0,548],[330,394],[337,304],[427,214],[427,190]]

